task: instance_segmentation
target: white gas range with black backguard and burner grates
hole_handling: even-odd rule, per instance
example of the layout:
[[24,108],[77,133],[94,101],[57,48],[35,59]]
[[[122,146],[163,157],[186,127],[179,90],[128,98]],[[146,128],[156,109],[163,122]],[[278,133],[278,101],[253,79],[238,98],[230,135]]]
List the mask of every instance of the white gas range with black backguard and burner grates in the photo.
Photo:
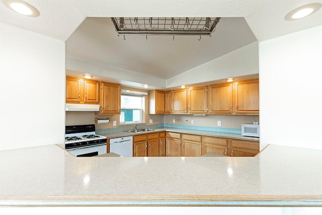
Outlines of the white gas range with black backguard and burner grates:
[[95,124],[65,126],[65,150],[76,157],[106,154],[106,142],[106,136],[95,133]]

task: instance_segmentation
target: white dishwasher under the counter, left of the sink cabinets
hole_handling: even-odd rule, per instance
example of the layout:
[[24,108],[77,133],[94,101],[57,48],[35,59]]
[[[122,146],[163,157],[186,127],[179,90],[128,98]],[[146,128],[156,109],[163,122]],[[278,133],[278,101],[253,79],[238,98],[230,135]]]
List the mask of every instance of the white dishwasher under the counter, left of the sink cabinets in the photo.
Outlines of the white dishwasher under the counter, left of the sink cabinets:
[[123,136],[110,139],[110,153],[123,157],[133,157],[133,136]]

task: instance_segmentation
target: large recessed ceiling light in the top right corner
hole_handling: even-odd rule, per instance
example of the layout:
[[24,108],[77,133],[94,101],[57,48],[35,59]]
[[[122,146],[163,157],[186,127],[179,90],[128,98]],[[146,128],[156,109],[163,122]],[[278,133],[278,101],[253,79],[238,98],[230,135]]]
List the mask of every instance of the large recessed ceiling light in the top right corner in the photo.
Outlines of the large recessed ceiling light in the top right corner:
[[322,5],[320,3],[303,5],[299,8],[294,9],[290,13],[286,14],[285,20],[292,21],[292,20],[297,20],[297,19],[307,17],[308,15],[311,15],[316,11],[318,11],[321,8],[321,6]]

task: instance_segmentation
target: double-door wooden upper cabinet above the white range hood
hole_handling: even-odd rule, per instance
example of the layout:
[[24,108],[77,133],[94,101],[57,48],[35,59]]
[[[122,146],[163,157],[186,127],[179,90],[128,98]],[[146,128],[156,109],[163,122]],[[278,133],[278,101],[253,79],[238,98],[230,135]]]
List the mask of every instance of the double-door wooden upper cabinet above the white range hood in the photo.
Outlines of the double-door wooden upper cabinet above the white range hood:
[[66,76],[66,103],[99,104],[99,81]]

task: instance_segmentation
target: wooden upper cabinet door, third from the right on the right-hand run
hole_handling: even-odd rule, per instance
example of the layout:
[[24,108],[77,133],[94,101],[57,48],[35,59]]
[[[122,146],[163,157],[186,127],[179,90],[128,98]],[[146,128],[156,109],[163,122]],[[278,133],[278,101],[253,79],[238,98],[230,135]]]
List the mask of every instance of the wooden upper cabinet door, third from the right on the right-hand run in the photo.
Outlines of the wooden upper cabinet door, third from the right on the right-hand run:
[[189,113],[207,113],[207,86],[188,89]]

